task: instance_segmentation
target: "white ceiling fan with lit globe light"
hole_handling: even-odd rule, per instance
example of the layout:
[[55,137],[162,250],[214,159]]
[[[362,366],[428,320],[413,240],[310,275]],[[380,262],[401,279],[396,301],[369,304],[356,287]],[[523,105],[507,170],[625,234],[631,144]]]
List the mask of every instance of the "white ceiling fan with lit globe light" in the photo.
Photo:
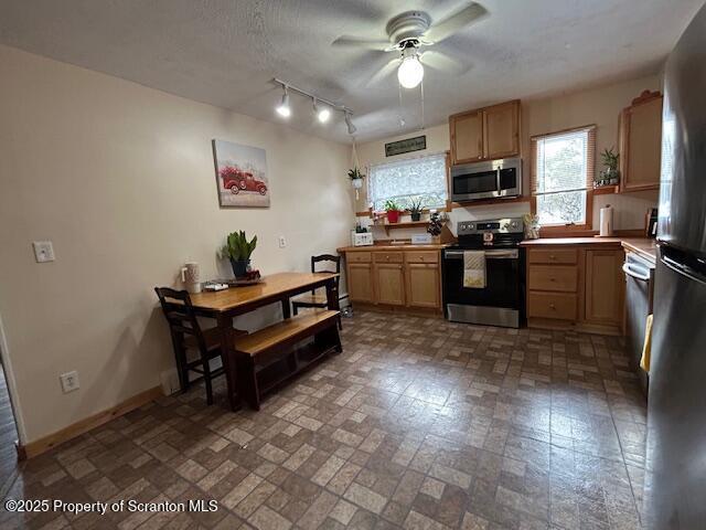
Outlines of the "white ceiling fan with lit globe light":
[[399,55],[391,60],[368,80],[373,84],[387,76],[397,66],[397,78],[405,88],[414,88],[424,78],[424,65],[461,75],[470,70],[449,55],[436,51],[420,51],[432,46],[458,31],[478,22],[488,14],[480,3],[470,2],[443,20],[434,22],[424,11],[406,11],[393,17],[385,31],[387,40],[371,40],[343,35],[333,41],[334,47],[354,47],[378,52],[397,52]]

